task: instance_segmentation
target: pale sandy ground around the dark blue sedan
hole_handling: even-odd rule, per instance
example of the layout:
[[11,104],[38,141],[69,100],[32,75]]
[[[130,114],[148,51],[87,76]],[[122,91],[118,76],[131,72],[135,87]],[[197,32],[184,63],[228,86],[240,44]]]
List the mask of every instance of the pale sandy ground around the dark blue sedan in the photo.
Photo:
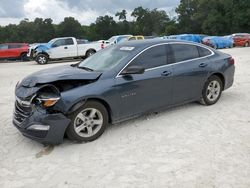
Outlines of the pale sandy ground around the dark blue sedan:
[[180,106],[55,147],[23,137],[11,119],[17,81],[59,64],[0,64],[0,187],[249,188],[250,48],[223,51],[237,69],[216,105]]

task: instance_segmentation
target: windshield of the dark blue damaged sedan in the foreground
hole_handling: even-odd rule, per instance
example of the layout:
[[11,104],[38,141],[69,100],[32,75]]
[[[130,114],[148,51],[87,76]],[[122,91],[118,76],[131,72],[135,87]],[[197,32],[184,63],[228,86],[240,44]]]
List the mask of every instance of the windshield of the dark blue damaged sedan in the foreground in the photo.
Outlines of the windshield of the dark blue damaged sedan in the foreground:
[[93,71],[104,72],[118,65],[130,55],[133,49],[134,47],[110,46],[82,61],[78,67],[86,67]]

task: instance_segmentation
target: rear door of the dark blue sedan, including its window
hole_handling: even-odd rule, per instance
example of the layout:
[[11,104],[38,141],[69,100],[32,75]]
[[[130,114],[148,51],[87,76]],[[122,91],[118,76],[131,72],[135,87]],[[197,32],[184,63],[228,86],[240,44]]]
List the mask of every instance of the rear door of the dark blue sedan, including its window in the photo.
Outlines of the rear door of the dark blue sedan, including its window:
[[197,100],[210,69],[207,48],[193,44],[169,44],[169,63],[173,64],[173,100],[175,104]]

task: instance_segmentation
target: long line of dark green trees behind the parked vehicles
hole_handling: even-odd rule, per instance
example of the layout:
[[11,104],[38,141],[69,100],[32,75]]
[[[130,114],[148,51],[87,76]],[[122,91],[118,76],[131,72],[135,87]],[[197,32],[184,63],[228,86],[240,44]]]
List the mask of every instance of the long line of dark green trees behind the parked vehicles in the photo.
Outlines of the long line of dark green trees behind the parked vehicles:
[[66,17],[57,25],[50,18],[24,19],[17,25],[0,26],[0,42],[47,42],[63,36],[100,40],[118,34],[226,35],[250,31],[249,0],[181,0],[176,13],[177,17],[170,19],[164,10],[137,7],[131,13],[132,21],[127,20],[127,11],[121,10],[115,14],[117,19],[104,15],[89,26],[73,17]]

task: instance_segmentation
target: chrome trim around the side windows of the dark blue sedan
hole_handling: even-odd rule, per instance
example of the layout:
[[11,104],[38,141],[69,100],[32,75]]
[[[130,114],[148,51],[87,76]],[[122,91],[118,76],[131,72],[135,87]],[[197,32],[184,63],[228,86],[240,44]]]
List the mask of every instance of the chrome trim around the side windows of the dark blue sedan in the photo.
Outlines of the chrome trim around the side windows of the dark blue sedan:
[[153,48],[153,47],[156,47],[156,46],[161,46],[161,45],[166,45],[166,44],[188,44],[188,45],[193,45],[193,46],[199,46],[201,48],[205,48],[207,50],[209,50],[211,52],[210,55],[207,55],[207,56],[203,56],[203,57],[198,57],[198,58],[194,58],[194,59],[188,59],[188,60],[185,60],[185,61],[179,61],[179,62],[176,62],[176,63],[171,63],[171,64],[166,64],[166,65],[161,65],[161,66],[157,66],[157,67],[153,67],[153,68],[149,68],[149,69],[146,69],[145,71],[151,71],[151,70],[155,70],[155,69],[158,69],[158,68],[163,68],[163,67],[167,67],[167,66],[171,66],[171,65],[176,65],[176,64],[181,64],[181,63],[186,63],[186,62],[189,62],[189,61],[193,61],[193,60],[199,60],[199,59],[204,59],[204,58],[207,58],[207,57],[211,57],[213,56],[215,53],[209,49],[208,47],[206,46],[202,46],[200,44],[191,44],[191,43],[188,43],[188,42],[167,42],[167,43],[161,43],[161,44],[154,44],[152,46],[149,46],[147,48],[145,48],[144,50],[142,50],[141,52],[139,52],[138,54],[136,54],[136,56],[134,56],[120,71],[119,73],[116,75],[115,78],[119,78],[119,77],[122,77],[121,73],[122,71],[131,63],[134,61],[135,58],[137,58],[139,55],[141,55],[143,52],[145,52],[146,50],[150,49],[150,48]]

